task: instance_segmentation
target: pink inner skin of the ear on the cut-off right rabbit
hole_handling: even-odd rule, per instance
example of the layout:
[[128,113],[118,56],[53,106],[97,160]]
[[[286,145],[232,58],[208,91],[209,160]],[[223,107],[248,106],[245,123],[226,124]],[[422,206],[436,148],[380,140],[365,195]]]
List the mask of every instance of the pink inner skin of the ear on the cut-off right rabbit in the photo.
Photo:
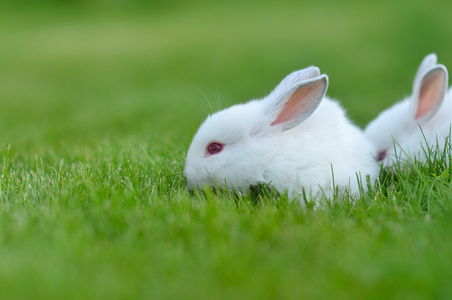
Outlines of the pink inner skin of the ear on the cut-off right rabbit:
[[416,119],[436,110],[443,98],[444,80],[442,72],[435,72],[424,78],[419,92]]

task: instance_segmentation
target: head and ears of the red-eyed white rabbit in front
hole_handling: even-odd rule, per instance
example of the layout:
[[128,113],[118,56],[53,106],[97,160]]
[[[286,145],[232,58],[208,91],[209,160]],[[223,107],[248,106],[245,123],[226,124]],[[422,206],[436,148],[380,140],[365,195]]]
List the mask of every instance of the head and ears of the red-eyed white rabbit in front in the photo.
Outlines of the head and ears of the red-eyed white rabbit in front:
[[283,133],[309,118],[327,86],[328,77],[309,67],[288,75],[261,100],[210,115],[187,152],[184,175],[189,187],[243,191],[268,183],[265,170],[279,151]]

